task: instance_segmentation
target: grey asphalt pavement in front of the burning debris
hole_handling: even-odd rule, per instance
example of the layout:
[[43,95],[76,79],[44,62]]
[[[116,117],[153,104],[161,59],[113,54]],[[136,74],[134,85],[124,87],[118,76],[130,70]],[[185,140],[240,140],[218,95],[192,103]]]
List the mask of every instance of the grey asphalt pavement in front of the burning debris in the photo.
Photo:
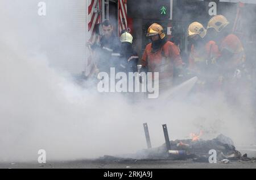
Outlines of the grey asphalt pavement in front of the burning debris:
[[[242,154],[256,157],[256,146],[238,146]],[[1,162],[0,169],[256,169],[256,161],[230,161],[228,164],[217,162],[209,164],[192,160],[73,160],[47,161],[46,164],[36,162]]]

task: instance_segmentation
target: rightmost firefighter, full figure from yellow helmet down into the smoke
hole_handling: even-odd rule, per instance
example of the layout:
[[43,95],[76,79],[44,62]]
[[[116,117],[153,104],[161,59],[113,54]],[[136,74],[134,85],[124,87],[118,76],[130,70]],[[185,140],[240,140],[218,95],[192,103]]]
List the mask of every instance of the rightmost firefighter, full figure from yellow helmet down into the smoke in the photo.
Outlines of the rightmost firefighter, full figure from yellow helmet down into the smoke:
[[244,94],[249,94],[247,90],[250,89],[250,74],[245,66],[246,56],[241,40],[232,34],[232,27],[223,15],[210,19],[208,29],[218,33],[221,53],[218,64],[223,90],[230,102],[240,104],[235,99],[245,98]]

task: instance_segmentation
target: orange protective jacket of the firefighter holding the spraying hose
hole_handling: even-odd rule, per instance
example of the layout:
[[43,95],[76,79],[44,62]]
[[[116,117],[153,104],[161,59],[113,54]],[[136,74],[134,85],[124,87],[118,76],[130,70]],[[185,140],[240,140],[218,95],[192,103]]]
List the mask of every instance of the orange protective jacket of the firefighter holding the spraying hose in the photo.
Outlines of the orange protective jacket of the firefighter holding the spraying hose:
[[152,43],[146,46],[142,56],[142,66],[147,67],[149,72],[159,72],[159,79],[172,78],[174,68],[183,64],[179,48],[171,41],[167,41],[156,52],[152,52],[151,47]]

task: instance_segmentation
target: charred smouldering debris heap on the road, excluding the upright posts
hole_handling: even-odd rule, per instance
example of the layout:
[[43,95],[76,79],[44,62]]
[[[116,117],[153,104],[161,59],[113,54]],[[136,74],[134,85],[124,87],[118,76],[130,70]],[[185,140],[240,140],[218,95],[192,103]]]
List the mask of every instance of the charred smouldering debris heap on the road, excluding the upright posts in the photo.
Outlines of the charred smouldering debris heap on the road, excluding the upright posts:
[[[199,134],[202,135],[202,132]],[[201,140],[199,135],[193,139],[170,141],[171,150],[166,150],[166,144],[158,148],[142,150],[143,158],[184,160],[192,158],[196,162],[208,162],[210,150],[216,150],[217,160],[238,161],[242,154],[236,150],[233,141],[224,135],[218,135],[212,140]]]

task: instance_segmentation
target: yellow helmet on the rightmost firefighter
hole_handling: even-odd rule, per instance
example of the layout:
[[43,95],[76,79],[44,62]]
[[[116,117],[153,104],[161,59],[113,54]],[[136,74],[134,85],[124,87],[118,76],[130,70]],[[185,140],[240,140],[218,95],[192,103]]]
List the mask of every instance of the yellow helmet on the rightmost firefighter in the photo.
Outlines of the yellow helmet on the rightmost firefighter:
[[225,16],[216,15],[209,20],[207,29],[214,28],[214,30],[216,30],[217,32],[221,32],[224,29],[224,27],[226,27],[228,24],[229,22],[225,18]]

